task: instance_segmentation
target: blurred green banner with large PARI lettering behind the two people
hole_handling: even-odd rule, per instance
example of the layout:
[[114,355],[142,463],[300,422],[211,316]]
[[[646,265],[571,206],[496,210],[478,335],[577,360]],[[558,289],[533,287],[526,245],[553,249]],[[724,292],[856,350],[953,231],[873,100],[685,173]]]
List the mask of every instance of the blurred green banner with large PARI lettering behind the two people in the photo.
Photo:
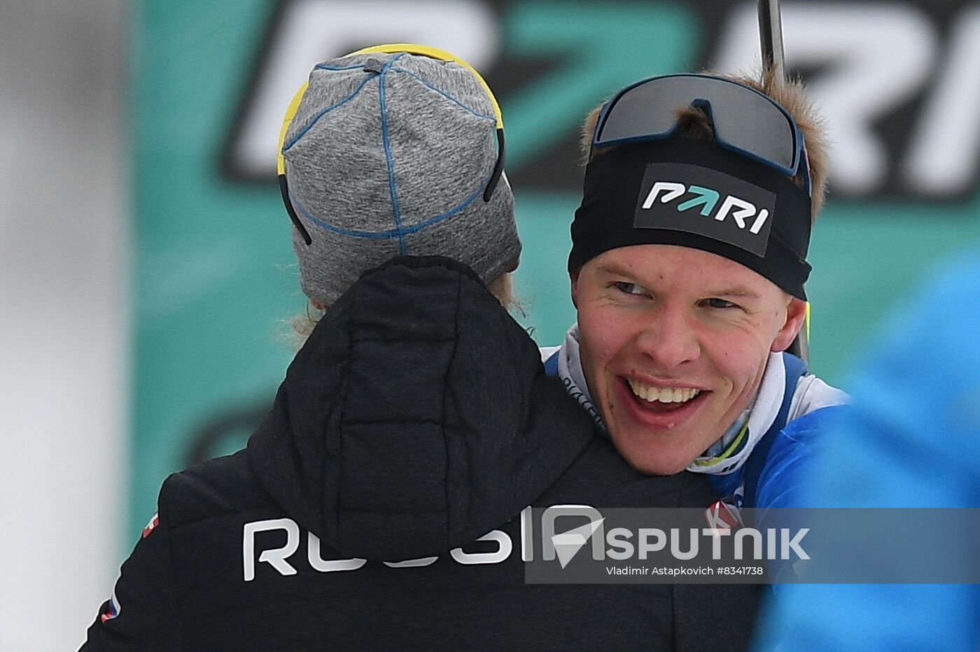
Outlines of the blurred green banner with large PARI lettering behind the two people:
[[[811,362],[832,382],[925,266],[980,240],[980,8],[938,4],[783,8],[787,67],[835,140],[808,285]],[[275,142],[317,62],[414,41],[485,74],[506,117],[523,321],[554,345],[574,319],[582,117],[645,76],[758,66],[756,30],[755,3],[722,0],[137,3],[132,528],[168,473],[245,442],[291,359],[305,302]]]

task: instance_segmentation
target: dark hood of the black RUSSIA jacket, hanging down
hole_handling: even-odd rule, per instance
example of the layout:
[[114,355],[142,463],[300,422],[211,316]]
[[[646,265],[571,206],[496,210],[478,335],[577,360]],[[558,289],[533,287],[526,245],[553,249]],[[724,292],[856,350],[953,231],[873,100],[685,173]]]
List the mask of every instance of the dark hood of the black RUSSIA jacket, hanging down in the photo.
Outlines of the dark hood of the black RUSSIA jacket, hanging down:
[[402,256],[327,310],[248,453],[272,499],[324,543],[398,561],[515,517],[592,434],[471,270]]

